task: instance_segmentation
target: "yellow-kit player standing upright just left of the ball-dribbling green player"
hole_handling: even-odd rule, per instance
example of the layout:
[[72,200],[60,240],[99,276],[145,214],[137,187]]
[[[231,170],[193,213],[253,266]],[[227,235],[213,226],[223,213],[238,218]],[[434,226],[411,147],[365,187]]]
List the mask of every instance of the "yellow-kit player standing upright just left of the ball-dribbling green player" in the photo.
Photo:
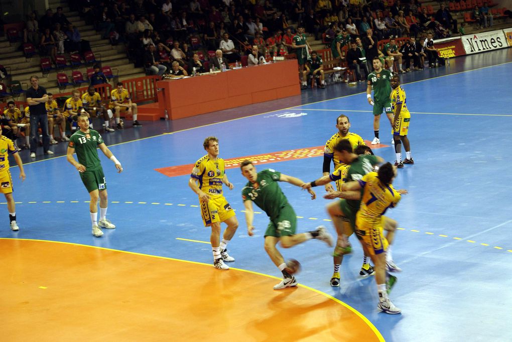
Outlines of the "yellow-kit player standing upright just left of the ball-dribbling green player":
[[[207,137],[204,139],[203,148],[207,154],[196,162],[188,186],[199,196],[204,225],[211,227],[210,242],[214,266],[219,270],[229,270],[224,261],[234,261],[234,258],[229,256],[226,246],[237,231],[238,220],[222,194],[222,184],[226,184],[229,190],[233,189],[233,184],[224,173],[224,159],[219,158],[219,139]],[[227,228],[220,241],[222,222]]]

